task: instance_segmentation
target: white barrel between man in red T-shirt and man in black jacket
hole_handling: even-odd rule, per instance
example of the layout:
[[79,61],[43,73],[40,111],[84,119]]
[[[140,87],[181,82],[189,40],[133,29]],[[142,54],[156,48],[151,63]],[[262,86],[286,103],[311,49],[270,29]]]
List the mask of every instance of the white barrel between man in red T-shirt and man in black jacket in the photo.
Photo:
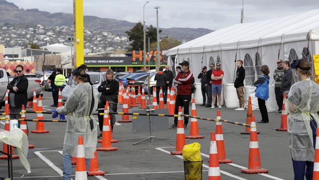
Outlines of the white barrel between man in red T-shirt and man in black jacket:
[[227,108],[239,108],[239,99],[234,84],[226,84],[224,97]]

